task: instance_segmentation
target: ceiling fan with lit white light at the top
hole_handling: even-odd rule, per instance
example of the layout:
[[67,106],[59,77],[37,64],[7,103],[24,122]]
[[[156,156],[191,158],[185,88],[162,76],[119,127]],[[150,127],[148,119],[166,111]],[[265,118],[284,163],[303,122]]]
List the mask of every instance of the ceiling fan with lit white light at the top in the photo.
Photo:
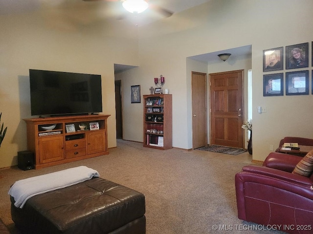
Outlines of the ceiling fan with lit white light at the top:
[[169,11],[163,7],[157,6],[149,0],[84,0],[84,1],[120,1],[122,2],[123,7],[134,14],[139,14],[145,11],[148,7],[157,11],[165,17],[170,17],[174,12]]

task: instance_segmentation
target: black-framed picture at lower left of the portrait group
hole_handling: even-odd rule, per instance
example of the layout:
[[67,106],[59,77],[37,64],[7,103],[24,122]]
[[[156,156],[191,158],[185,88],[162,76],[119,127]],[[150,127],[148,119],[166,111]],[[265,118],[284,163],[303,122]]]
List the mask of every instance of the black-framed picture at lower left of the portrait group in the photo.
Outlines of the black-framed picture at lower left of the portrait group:
[[263,75],[263,96],[283,96],[283,73]]

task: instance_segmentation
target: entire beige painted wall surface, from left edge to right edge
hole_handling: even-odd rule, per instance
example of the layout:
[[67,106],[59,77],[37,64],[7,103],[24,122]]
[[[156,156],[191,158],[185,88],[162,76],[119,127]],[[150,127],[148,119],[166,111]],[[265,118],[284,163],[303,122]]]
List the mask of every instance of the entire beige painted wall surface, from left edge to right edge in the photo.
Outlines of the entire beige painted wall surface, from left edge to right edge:
[[[153,78],[163,75],[173,94],[173,146],[191,148],[190,71],[212,73],[252,67],[253,159],[264,160],[285,136],[312,138],[312,66],[310,94],[263,97],[265,49],[309,42],[313,30],[312,0],[211,0],[148,26],[89,23],[79,27],[51,25],[39,13],[0,17],[0,111],[8,133],[0,148],[0,168],[16,165],[17,152],[26,150],[30,117],[28,69],[101,74],[104,113],[109,118],[109,147],[116,146],[113,63],[137,65],[119,75],[123,87],[124,138],[142,141],[142,103],[131,104],[130,86],[149,94]],[[223,16],[221,14],[223,13]],[[296,16],[301,16],[300,20]],[[55,18],[54,18],[55,19]],[[61,20],[58,18],[58,20]],[[117,22],[119,23],[119,22]],[[138,40],[137,32],[138,30]],[[188,57],[252,45],[251,58],[233,64],[198,64]],[[231,60],[229,60],[230,62]],[[284,66],[285,67],[285,66]],[[287,70],[289,71],[289,70]],[[286,70],[283,70],[285,73]],[[269,74],[269,73],[266,73]],[[285,78],[284,78],[285,80]],[[246,94],[246,91],[245,91]],[[258,114],[256,106],[267,113]],[[292,106],[292,108],[290,108]]]

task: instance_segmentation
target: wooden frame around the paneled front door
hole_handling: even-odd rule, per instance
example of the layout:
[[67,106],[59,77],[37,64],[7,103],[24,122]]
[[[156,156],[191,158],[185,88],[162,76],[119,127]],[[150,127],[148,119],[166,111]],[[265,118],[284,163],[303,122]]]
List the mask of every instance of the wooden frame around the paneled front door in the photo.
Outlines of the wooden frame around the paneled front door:
[[[212,118],[211,118],[211,113],[212,113],[212,109],[211,109],[211,76],[212,75],[223,75],[223,74],[228,74],[228,73],[235,73],[235,72],[241,72],[242,73],[242,115],[243,115],[243,120],[244,120],[244,113],[245,113],[245,69],[240,69],[240,70],[234,70],[234,71],[227,71],[227,72],[216,72],[216,73],[209,73],[208,74],[208,81],[209,81],[209,85],[208,85],[208,97],[209,97],[209,101],[208,101],[208,107],[209,107],[209,112],[208,112],[208,124],[210,126],[209,128],[209,144],[212,145],[212,129],[211,129],[211,125],[212,125]],[[243,134],[243,149],[245,149],[245,134]]]

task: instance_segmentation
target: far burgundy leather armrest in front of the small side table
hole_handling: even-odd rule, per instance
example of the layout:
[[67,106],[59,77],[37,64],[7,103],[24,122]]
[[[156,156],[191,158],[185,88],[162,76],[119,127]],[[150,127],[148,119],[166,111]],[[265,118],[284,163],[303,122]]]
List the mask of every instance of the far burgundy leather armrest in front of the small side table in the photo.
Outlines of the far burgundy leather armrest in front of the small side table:
[[272,152],[263,162],[263,166],[291,173],[301,159],[301,156]]

